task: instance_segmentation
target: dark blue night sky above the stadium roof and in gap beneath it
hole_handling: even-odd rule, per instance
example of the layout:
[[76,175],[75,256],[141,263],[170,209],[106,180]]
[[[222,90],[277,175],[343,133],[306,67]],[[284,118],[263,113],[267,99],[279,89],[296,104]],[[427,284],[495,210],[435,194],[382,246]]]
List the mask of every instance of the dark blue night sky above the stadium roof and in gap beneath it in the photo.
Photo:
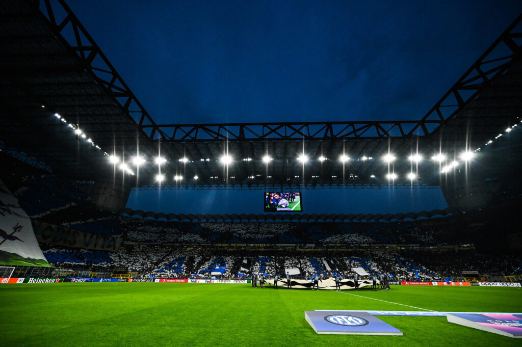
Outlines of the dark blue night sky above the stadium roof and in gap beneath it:
[[[522,9],[513,0],[67,3],[158,124],[420,119]],[[363,211],[345,213],[393,212],[378,201],[390,198],[397,212],[446,206],[440,191],[368,192],[332,198],[357,195]],[[201,211],[199,192],[141,193],[129,207],[177,212],[181,194],[190,212],[221,212]],[[211,195],[228,213],[257,213],[220,194]]]

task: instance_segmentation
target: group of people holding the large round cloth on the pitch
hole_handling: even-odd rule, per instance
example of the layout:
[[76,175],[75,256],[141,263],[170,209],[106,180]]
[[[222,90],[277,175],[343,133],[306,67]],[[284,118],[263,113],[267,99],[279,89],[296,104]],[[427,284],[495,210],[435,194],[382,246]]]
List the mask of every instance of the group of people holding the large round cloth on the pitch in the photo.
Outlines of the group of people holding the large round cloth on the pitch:
[[[287,289],[293,290],[292,289],[292,276],[290,275],[290,273],[288,271],[287,271],[286,277],[287,277]],[[281,276],[279,274],[276,274],[276,276],[274,277],[274,289],[279,289],[277,282],[280,279],[281,279]],[[355,291],[359,291],[359,274],[354,273],[352,279],[353,279],[353,283],[355,285]],[[379,284],[381,285],[381,290],[390,290],[389,275],[387,272],[384,272],[383,274],[377,274],[377,275],[371,274],[369,276],[369,279],[372,281],[372,290],[378,290]],[[259,273],[258,276],[256,276],[256,273],[252,272],[251,280],[252,280],[252,288],[257,288],[257,283],[259,281],[259,288],[265,289],[266,280],[265,280],[264,273]],[[334,276],[334,280],[335,280],[335,290],[341,291],[341,280],[342,280],[341,275],[336,272],[335,276]],[[317,288],[317,290],[319,290],[319,282],[323,282],[323,280],[321,279],[321,276],[319,276],[319,274],[317,272],[313,274],[311,281],[313,281],[312,290],[315,290],[316,288]],[[377,284],[377,281],[379,281],[379,284]]]

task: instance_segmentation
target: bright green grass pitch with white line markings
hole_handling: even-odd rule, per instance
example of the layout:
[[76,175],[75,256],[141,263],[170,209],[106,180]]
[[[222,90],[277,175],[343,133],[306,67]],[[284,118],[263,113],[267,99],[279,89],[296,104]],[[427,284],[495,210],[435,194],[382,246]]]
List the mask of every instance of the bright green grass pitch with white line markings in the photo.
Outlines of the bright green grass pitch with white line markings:
[[379,316],[402,330],[404,336],[319,335],[304,319],[304,311],[314,309],[419,310],[402,305],[441,311],[522,312],[519,288],[392,286],[392,289],[355,293],[276,291],[253,289],[250,284],[2,284],[1,344],[5,347],[522,345],[520,339],[454,325],[445,317]]

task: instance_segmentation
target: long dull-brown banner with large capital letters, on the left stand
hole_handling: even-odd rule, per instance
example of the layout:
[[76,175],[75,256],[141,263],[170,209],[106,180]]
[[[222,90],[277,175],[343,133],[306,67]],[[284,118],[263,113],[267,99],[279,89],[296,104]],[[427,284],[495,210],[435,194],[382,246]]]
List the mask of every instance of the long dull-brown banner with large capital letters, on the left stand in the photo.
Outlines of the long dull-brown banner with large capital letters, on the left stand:
[[86,233],[38,220],[33,220],[32,225],[38,242],[53,245],[116,252],[123,240],[121,237]]

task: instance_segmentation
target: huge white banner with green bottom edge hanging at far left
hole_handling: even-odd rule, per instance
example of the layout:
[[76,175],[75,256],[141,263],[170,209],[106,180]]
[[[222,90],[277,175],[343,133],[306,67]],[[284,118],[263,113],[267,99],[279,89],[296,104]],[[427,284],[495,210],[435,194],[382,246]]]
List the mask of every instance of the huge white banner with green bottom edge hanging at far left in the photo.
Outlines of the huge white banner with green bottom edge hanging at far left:
[[51,267],[43,256],[27,213],[0,181],[0,265]]

